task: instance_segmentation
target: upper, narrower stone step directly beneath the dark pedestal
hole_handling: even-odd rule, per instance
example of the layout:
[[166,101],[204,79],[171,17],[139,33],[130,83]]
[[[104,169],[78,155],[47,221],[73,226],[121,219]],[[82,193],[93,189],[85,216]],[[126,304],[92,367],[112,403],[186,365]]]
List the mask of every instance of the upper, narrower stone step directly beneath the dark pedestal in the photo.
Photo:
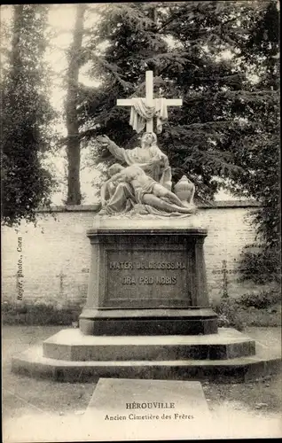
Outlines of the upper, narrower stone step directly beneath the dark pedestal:
[[227,360],[255,354],[255,340],[238,330],[196,336],[85,336],[60,330],[43,342],[43,357],[63,361]]

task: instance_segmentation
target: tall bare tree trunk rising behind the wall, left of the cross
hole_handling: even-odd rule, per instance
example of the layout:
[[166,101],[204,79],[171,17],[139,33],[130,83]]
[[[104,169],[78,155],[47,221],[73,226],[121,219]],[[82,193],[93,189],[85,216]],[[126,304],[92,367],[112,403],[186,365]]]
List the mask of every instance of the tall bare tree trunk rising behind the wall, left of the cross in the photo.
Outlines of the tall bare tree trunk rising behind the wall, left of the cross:
[[67,70],[67,205],[80,205],[82,201],[80,183],[81,153],[76,102],[85,10],[86,4],[77,4],[74,24],[74,40],[69,51]]

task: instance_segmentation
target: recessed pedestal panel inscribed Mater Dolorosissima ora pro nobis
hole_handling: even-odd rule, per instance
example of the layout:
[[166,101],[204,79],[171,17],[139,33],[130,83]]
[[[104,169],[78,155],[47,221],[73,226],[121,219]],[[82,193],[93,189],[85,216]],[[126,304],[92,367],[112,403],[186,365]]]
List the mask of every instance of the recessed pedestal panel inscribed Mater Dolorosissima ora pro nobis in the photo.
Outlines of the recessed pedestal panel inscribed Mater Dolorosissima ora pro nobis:
[[190,299],[186,251],[108,251],[106,260],[106,299],[110,306],[118,300],[129,300],[131,307]]

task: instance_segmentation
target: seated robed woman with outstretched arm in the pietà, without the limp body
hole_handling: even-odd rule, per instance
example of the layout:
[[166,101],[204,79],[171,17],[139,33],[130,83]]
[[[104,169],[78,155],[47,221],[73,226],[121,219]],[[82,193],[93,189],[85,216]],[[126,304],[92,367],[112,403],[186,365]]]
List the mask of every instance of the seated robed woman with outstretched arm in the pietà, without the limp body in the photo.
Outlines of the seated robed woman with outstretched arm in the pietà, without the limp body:
[[[111,173],[111,179],[103,183],[101,187],[103,214],[122,214],[129,212],[133,208],[138,214],[162,216],[170,216],[171,214],[182,215],[184,212],[185,214],[192,214],[193,209],[190,207],[189,211],[184,210],[181,207],[182,203],[177,206],[179,209],[179,213],[177,214],[177,207],[174,206],[172,210],[172,206],[168,205],[166,201],[168,196],[161,196],[161,202],[158,200],[157,203],[156,196],[150,197],[153,190],[153,183],[155,183],[163,187],[164,190],[168,190],[170,198],[176,198],[175,195],[171,197],[173,194],[171,193],[171,168],[169,167],[168,157],[161,152],[161,149],[156,144],[157,137],[154,133],[145,133],[141,139],[141,146],[132,150],[119,147],[107,136],[99,136],[98,142],[105,145],[115,159],[118,159],[123,165],[141,168],[147,177],[147,179],[145,179],[146,185],[143,183],[140,188],[136,186],[136,183],[130,182],[130,180],[127,179],[127,175],[121,175],[121,179],[117,182],[115,181],[115,175]],[[114,165],[113,167],[119,166],[121,165]],[[130,170],[131,169],[129,169],[129,171]],[[124,178],[122,179],[122,177]],[[149,182],[151,187],[148,186]],[[146,197],[140,198],[141,195],[145,195]],[[150,204],[152,201],[153,205]],[[178,203],[179,202],[180,200]]]

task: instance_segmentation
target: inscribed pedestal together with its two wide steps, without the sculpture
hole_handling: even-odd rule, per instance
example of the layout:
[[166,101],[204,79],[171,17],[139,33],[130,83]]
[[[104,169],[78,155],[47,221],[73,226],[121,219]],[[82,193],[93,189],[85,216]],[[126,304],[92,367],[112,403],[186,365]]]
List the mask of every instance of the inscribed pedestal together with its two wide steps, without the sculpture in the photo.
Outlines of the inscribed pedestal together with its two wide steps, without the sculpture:
[[14,372],[68,382],[231,383],[279,370],[280,356],[265,346],[238,330],[217,330],[208,304],[206,229],[189,218],[98,220],[88,231],[90,283],[80,329],[61,330],[13,357]]

